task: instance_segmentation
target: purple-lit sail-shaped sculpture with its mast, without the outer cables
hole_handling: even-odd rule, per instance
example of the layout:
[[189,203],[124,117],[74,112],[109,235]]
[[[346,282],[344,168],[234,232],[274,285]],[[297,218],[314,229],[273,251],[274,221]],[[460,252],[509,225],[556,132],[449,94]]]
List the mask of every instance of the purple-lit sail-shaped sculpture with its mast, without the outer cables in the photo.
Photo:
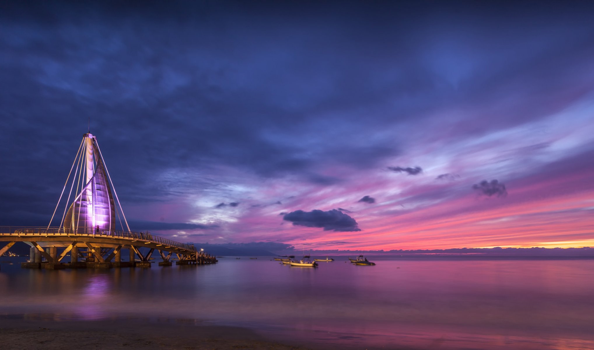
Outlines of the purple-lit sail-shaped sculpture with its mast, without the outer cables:
[[[84,147],[83,147],[84,146]],[[80,153],[84,186],[64,217],[64,231],[73,234],[99,234],[115,231],[115,206],[109,176],[94,135],[84,134]],[[84,166],[84,170],[83,170]],[[77,166],[78,168],[78,166]]]

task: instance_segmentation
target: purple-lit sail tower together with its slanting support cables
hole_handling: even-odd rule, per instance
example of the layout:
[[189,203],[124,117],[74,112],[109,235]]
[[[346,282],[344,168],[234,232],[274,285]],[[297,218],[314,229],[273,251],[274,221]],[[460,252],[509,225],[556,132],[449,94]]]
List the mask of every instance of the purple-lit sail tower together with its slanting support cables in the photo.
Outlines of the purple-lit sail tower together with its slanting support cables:
[[[74,174],[72,174],[73,170]],[[113,197],[115,190],[103,162],[97,138],[90,133],[83,136],[83,141],[80,144],[74,163],[72,163],[62,195],[68,184],[71,184],[67,197],[68,203],[67,207],[64,208],[61,222],[61,228],[64,229],[64,232],[71,234],[110,234],[114,232],[116,230],[116,215],[118,214]],[[117,200],[117,195],[115,198]],[[60,196],[59,201],[61,200],[62,196]],[[56,210],[58,206],[56,206]],[[68,208],[68,211],[66,211],[66,208]],[[121,206],[119,206],[119,213],[124,217],[126,229],[129,231]],[[121,229],[125,229],[121,220],[119,221],[122,226]]]

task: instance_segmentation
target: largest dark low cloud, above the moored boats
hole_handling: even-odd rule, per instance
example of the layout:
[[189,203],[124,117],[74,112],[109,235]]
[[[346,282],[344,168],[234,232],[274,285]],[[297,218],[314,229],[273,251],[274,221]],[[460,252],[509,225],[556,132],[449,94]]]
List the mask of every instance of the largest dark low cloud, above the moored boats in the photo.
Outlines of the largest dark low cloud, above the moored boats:
[[295,210],[285,214],[283,220],[290,221],[295,226],[318,227],[324,231],[361,231],[355,219],[336,209],[327,212],[318,209],[311,212]]

